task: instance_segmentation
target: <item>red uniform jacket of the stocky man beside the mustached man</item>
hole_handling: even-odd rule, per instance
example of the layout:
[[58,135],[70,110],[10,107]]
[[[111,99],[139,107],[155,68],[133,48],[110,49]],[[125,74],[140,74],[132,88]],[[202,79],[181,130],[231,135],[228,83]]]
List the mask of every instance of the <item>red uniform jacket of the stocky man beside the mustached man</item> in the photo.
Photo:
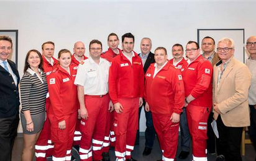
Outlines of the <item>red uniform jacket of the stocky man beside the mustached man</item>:
[[155,63],[149,66],[145,74],[145,101],[153,113],[171,115],[180,114],[185,104],[184,85],[180,70],[170,61],[155,75]]

